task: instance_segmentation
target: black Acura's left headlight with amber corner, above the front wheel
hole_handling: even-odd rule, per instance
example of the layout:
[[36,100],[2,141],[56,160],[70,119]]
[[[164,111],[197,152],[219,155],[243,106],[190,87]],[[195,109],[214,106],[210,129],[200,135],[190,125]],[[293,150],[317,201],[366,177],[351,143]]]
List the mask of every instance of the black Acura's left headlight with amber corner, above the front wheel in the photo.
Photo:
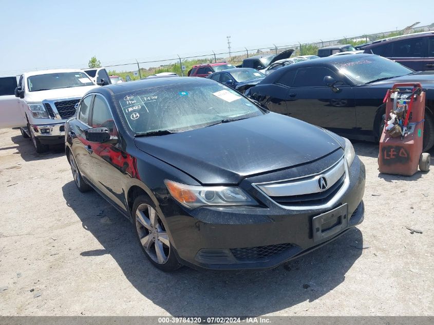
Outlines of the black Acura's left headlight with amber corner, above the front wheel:
[[204,205],[256,205],[241,188],[235,186],[197,186],[164,180],[169,193],[182,205],[196,208]]

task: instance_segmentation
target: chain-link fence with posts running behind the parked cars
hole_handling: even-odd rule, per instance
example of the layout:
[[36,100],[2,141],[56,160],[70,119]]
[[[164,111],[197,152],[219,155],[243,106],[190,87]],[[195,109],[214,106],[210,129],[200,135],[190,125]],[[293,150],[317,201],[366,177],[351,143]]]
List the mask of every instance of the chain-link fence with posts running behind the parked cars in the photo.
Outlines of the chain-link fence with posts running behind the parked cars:
[[[103,66],[109,71],[109,74],[119,75],[124,79],[139,80],[147,77],[150,74],[159,72],[176,72],[179,75],[187,75],[194,65],[215,62],[228,62],[233,65],[242,63],[243,59],[257,54],[278,54],[282,51],[293,49],[295,55],[315,55],[318,48],[336,44],[354,44],[365,43],[387,37],[388,35],[410,33],[417,31],[430,31],[434,30],[434,24],[429,26],[421,26],[417,28],[404,29],[402,31],[389,31],[375,34],[364,34],[359,36],[346,37],[342,39],[323,41],[319,40],[312,43],[296,43],[292,45],[271,45],[271,46],[257,46],[257,47],[241,47],[229,51],[225,50],[211,50],[208,53],[193,53],[183,55],[171,55],[167,58],[153,58],[153,59],[136,59],[134,62],[106,62]],[[62,68],[84,68],[83,65],[70,65]],[[34,71],[36,69],[28,69],[26,71]],[[23,71],[2,71],[0,75],[19,75]]]

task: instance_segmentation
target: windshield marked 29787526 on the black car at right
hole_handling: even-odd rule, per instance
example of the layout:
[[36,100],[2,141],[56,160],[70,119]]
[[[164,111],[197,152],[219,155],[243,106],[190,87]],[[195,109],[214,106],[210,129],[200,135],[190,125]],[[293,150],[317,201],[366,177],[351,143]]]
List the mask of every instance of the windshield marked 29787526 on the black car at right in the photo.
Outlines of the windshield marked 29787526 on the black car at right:
[[376,55],[341,62],[337,67],[358,85],[414,72],[399,63]]

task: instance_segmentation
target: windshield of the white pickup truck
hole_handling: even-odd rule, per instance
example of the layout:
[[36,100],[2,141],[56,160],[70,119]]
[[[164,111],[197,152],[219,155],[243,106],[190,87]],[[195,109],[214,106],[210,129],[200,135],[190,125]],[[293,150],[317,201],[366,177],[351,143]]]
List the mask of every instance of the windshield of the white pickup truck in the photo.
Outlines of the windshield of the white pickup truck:
[[83,72],[60,72],[32,75],[27,78],[29,91],[50,90],[59,88],[93,86]]

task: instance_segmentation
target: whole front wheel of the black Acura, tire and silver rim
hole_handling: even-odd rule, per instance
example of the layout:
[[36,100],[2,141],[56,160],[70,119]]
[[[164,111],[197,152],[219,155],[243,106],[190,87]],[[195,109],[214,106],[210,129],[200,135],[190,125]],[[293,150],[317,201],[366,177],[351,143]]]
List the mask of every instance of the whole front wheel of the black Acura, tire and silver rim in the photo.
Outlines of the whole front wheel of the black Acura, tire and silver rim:
[[133,224],[136,238],[147,259],[164,272],[173,272],[182,265],[178,262],[164,224],[154,203],[139,196],[133,205]]

